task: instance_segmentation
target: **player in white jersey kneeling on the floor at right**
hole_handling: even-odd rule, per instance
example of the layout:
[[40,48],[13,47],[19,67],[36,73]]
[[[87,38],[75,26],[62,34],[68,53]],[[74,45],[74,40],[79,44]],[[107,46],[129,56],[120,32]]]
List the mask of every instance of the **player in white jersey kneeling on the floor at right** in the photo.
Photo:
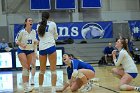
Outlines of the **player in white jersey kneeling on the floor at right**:
[[129,85],[129,83],[134,78],[137,77],[138,70],[132,57],[128,53],[125,39],[123,38],[118,39],[115,47],[118,49],[119,55],[118,57],[116,57],[116,50],[112,52],[115,66],[117,66],[117,68],[112,69],[112,72],[115,76],[117,76],[120,79],[120,85],[119,85],[120,90],[140,91],[140,87],[134,87],[134,86]]

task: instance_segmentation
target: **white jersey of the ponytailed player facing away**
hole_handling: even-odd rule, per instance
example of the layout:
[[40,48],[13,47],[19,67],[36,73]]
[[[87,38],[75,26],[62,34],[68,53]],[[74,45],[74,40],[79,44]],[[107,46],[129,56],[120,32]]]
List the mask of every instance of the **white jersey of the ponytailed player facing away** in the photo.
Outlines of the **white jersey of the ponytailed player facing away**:
[[[40,25],[38,24],[38,27]],[[55,40],[58,39],[57,27],[56,24],[52,21],[47,21],[46,32],[43,37],[39,36],[39,50],[47,49],[51,46],[56,45]]]

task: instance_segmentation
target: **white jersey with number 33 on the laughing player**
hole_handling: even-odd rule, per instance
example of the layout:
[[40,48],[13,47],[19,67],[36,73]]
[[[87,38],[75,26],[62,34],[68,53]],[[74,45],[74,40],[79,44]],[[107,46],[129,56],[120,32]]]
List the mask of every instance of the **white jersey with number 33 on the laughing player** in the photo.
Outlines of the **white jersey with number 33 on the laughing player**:
[[20,30],[15,39],[15,42],[20,42],[26,45],[26,48],[19,46],[21,50],[34,50],[35,41],[37,41],[36,31],[33,29],[30,33],[28,33],[25,29]]

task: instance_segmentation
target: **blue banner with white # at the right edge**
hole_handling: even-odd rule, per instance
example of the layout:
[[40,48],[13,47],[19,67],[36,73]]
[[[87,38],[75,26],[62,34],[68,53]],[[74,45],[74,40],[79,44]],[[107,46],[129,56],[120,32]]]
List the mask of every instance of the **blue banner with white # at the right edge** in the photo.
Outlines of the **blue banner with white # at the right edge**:
[[134,38],[140,38],[140,20],[128,21],[131,34]]

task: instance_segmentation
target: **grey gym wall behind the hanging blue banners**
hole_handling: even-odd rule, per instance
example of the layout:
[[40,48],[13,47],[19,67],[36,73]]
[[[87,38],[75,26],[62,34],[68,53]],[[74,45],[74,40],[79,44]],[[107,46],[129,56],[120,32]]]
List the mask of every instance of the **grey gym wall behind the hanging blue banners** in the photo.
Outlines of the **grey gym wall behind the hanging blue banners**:
[[[6,40],[9,42],[13,42],[14,24],[22,24],[27,17],[32,17],[34,22],[40,20],[41,11],[31,11],[29,1],[0,0],[0,32],[3,31],[3,26],[8,28]],[[54,2],[55,0],[51,1]],[[119,23],[127,26],[127,20],[140,19],[140,0],[102,0],[102,2],[101,9],[77,8],[75,11],[56,11],[52,9],[50,11],[51,19],[55,22],[113,21],[116,29],[117,26],[120,27],[117,31],[121,33],[124,32]],[[54,5],[52,3],[53,8]],[[124,30],[126,31],[128,28]]]

